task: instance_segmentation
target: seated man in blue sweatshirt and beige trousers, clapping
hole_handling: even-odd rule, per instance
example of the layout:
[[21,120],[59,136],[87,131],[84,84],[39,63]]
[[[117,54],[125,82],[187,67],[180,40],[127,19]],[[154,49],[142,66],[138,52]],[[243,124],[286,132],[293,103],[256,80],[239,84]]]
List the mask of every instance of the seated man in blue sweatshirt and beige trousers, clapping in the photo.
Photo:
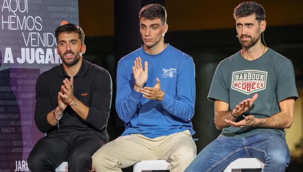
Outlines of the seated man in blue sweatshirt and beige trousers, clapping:
[[164,43],[166,16],[159,4],[139,13],[144,45],[123,57],[117,69],[116,110],[125,132],[93,155],[96,172],[122,172],[155,159],[170,162],[171,172],[183,172],[196,156],[195,64]]

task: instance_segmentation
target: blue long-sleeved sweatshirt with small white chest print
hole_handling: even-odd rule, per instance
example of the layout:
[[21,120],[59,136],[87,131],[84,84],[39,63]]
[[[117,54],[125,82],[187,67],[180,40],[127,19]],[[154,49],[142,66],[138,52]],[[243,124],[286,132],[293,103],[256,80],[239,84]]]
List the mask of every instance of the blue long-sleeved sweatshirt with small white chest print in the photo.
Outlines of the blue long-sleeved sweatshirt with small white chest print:
[[[136,57],[148,61],[148,80],[153,87],[160,79],[165,93],[162,101],[144,98],[133,87],[132,66]],[[149,55],[143,46],[121,58],[117,69],[116,111],[125,123],[122,135],[143,134],[149,138],[185,130],[195,134],[191,122],[195,107],[195,64],[193,58],[171,45],[157,55]]]

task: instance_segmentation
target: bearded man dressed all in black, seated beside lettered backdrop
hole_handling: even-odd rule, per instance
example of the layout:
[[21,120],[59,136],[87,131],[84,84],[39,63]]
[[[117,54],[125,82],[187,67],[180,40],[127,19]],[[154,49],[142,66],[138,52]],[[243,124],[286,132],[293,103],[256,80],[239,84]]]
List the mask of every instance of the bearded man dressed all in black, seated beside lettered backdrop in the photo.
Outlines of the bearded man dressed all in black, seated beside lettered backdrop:
[[63,63],[41,74],[36,85],[35,122],[47,133],[28,157],[32,172],[90,172],[91,156],[108,142],[112,84],[108,72],[83,59],[85,34],[75,24],[55,31]]

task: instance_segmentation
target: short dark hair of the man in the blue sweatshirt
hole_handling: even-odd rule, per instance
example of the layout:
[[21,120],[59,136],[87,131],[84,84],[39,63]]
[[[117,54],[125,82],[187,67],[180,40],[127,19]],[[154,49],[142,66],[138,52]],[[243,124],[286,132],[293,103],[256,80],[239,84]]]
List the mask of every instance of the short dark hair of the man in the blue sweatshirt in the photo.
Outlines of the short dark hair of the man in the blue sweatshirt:
[[139,19],[161,19],[163,25],[166,24],[167,13],[165,8],[160,4],[149,4],[144,6],[139,13]]

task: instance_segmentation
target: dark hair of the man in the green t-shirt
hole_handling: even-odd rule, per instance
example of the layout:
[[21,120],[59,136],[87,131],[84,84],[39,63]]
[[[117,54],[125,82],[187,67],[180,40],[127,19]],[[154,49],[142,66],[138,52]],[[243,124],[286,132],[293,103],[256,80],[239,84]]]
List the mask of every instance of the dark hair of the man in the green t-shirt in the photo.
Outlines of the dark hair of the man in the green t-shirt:
[[265,20],[265,10],[257,2],[251,1],[251,2],[242,2],[238,4],[238,6],[235,8],[234,11],[234,17],[247,17],[250,15],[256,15],[256,20],[261,22],[262,20]]

